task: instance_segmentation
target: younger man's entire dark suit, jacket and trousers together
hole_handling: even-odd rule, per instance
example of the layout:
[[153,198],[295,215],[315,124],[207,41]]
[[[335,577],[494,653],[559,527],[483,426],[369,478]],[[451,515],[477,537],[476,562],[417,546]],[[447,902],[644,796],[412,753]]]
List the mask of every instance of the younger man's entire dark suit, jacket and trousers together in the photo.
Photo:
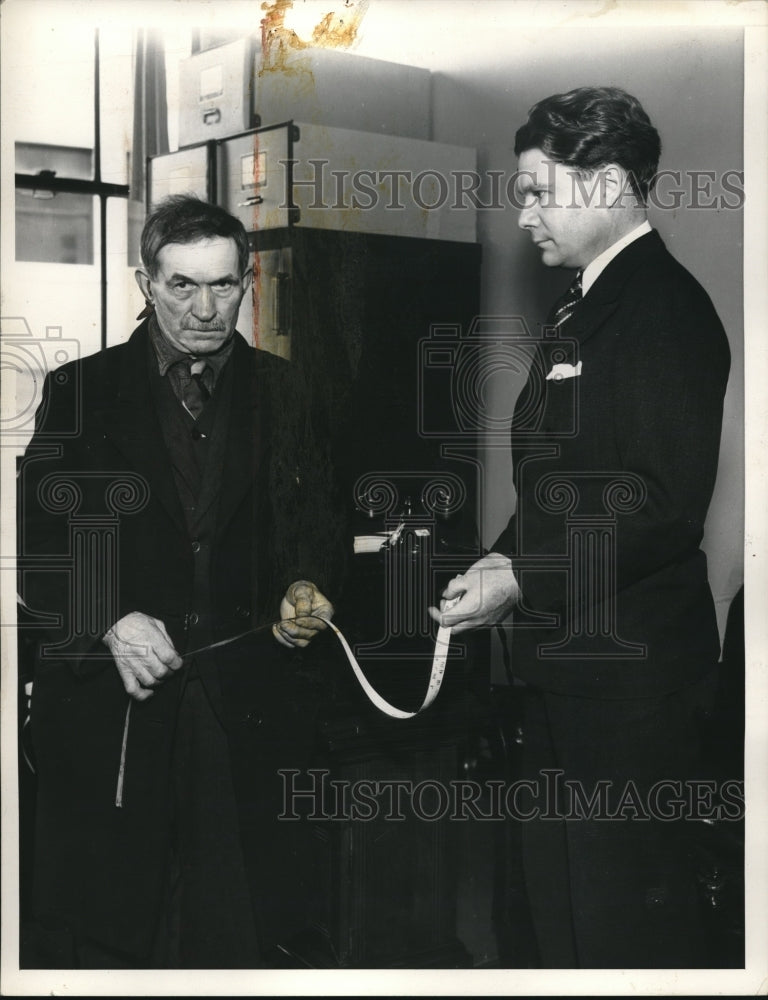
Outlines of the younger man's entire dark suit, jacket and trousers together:
[[633,822],[631,810],[606,820],[627,788],[644,809],[659,782],[700,776],[697,718],[719,641],[699,545],[728,369],[712,303],[652,231],[542,338],[516,407],[517,509],[494,549],[511,555],[523,595],[510,644],[528,685],[520,768],[586,796],[607,788],[607,816],[571,821],[563,784],[568,821],[521,824],[545,967],[708,959],[691,863],[700,824]]

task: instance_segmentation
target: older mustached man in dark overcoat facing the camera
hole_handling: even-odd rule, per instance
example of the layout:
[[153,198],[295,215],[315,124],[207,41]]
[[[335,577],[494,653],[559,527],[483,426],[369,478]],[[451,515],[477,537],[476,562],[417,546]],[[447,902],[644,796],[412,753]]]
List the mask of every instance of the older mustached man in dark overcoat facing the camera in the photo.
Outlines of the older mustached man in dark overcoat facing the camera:
[[304,579],[311,446],[290,366],[235,331],[241,223],[171,198],[142,259],[147,318],[48,376],[21,468],[31,960],[248,967],[302,929],[276,772],[304,762],[315,692],[278,643],[333,611]]

